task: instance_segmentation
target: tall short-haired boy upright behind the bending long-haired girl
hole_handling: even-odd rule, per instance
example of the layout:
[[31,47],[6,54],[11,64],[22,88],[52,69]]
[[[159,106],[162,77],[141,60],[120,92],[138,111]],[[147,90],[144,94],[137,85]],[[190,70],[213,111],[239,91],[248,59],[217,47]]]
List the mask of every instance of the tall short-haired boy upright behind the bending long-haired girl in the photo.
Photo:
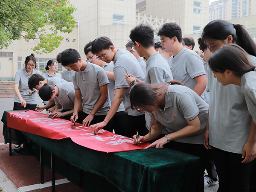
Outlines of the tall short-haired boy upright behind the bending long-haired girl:
[[201,96],[207,84],[203,62],[195,51],[183,47],[180,26],[177,23],[165,23],[157,35],[161,38],[165,52],[173,53],[168,60],[173,79]]

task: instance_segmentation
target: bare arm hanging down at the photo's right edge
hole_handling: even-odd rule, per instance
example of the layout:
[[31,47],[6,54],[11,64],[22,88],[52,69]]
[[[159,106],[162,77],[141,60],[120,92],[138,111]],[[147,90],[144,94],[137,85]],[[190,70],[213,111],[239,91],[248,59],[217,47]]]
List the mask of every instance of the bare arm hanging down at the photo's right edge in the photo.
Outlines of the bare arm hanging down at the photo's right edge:
[[242,159],[243,158],[244,160],[241,163],[249,163],[256,158],[256,125],[253,118],[250,135],[242,151]]

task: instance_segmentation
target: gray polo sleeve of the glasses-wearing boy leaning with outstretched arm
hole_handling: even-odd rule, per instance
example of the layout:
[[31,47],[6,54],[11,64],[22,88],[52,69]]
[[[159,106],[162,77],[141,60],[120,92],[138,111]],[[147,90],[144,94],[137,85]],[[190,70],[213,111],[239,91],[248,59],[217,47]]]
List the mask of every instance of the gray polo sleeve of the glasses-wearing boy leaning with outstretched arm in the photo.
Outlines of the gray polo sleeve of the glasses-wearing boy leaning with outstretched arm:
[[125,79],[126,70],[124,67],[115,67],[114,76],[115,76],[115,89],[120,88],[129,88],[129,85]]

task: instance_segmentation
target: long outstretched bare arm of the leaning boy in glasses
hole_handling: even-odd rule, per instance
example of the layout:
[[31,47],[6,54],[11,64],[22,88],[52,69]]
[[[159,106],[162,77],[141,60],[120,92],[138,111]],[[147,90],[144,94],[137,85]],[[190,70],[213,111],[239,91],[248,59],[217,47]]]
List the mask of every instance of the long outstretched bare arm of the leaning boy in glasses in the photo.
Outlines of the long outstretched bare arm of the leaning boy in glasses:
[[93,131],[99,131],[101,128],[105,127],[108,122],[112,119],[112,117],[116,114],[116,111],[119,108],[120,103],[123,100],[123,95],[125,92],[125,88],[120,88],[115,90],[115,96],[111,104],[111,108],[108,111],[107,116],[105,117],[103,122],[96,123],[94,125],[90,125],[90,131],[93,129]]

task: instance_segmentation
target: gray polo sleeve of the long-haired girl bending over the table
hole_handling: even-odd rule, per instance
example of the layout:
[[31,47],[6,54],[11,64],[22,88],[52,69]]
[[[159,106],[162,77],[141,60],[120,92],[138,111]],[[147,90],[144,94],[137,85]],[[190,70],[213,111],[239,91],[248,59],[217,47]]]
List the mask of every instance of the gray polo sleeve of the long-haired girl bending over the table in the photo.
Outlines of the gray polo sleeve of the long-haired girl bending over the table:
[[199,114],[198,106],[195,102],[194,96],[190,93],[183,93],[177,101],[180,111],[182,111],[186,121],[195,119]]

